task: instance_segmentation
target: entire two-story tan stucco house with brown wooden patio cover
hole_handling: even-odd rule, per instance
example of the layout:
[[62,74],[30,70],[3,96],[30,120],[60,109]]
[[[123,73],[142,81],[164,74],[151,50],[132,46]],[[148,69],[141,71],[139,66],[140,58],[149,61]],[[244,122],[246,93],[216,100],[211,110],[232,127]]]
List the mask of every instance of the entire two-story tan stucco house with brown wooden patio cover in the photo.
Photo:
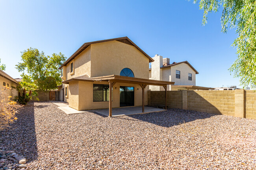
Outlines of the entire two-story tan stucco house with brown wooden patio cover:
[[109,108],[110,116],[112,107],[144,109],[147,85],[174,84],[148,79],[148,63],[153,61],[127,37],[87,42],[59,68],[59,99],[76,110]]

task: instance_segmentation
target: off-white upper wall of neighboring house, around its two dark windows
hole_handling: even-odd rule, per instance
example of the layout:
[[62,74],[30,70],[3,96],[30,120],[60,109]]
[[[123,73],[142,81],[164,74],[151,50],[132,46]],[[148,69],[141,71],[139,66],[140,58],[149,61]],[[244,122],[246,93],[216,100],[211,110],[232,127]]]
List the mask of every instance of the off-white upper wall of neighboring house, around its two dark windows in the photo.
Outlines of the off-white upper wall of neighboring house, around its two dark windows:
[[[180,71],[180,79],[176,79],[176,70]],[[192,80],[188,80],[188,73],[192,74]],[[171,81],[175,82],[174,85],[196,85],[196,73],[187,64],[182,63],[171,67]]]

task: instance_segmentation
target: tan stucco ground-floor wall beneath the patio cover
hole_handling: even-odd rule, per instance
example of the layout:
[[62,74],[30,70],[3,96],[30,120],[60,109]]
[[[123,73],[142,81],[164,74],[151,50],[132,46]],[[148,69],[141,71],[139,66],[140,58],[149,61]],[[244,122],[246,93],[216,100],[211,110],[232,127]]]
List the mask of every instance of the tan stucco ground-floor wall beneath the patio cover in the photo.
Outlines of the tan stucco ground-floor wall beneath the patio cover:
[[[69,106],[76,110],[108,108],[108,101],[93,102],[93,84],[106,84],[106,82],[73,81],[70,83],[68,98]],[[139,85],[116,83],[113,86],[113,108],[120,106],[120,86],[134,87],[134,106],[142,105],[142,90]],[[145,105],[147,105],[147,90],[145,90]]]

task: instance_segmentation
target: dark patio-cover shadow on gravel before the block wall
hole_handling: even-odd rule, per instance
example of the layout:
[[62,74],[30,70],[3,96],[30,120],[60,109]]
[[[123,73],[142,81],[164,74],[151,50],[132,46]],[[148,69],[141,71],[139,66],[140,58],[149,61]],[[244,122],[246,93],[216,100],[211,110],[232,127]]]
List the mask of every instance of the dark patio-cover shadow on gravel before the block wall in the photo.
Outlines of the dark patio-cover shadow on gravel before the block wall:
[[191,110],[169,109],[163,112],[153,112],[146,114],[127,115],[134,119],[156,124],[162,127],[171,127],[179,124],[195,121],[197,119],[206,119],[217,114],[203,113]]

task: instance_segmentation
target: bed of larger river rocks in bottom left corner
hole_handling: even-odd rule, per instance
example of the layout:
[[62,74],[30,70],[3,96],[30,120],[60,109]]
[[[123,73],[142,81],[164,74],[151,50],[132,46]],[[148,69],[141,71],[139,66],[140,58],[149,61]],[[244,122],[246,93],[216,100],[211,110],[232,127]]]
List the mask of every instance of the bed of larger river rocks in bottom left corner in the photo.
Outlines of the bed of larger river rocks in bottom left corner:
[[15,152],[0,150],[0,170],[25,170],[26,158]]

